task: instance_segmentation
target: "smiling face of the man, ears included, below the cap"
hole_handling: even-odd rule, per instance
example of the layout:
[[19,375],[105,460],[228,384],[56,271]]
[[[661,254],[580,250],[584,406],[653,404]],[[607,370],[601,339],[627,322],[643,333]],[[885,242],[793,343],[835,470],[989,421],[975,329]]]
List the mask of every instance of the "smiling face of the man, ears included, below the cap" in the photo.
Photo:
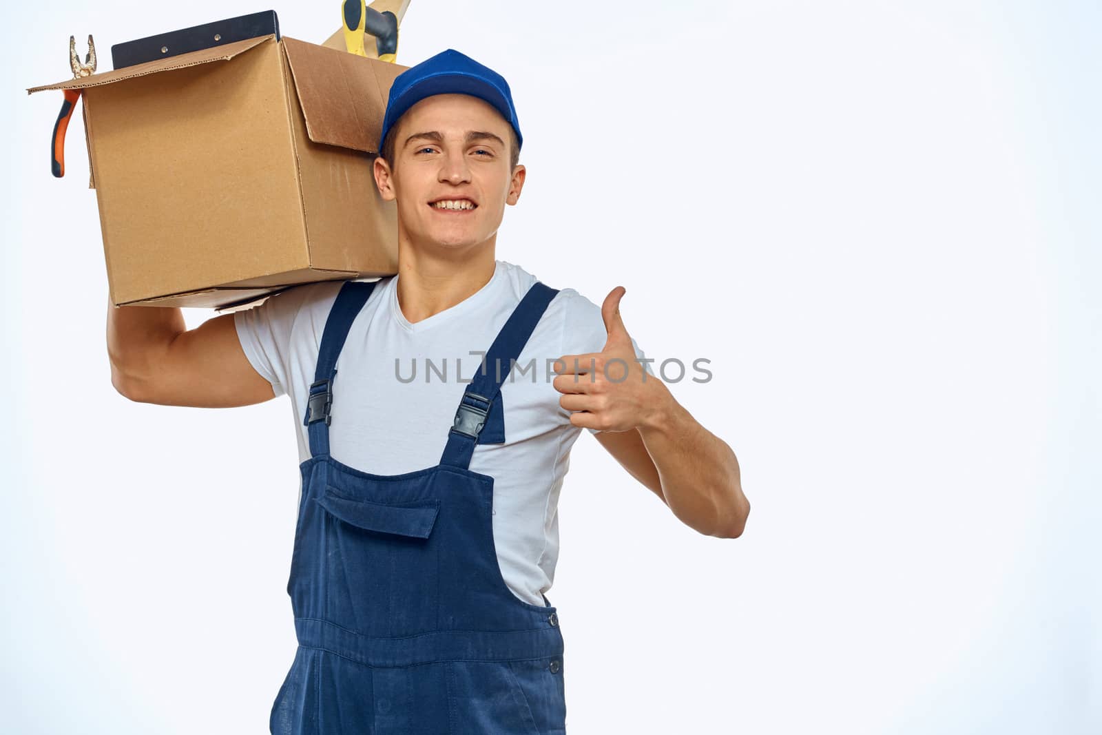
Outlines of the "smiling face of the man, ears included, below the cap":
[[398,202],[400,235],[411,244],[461,249],[497,234],[516,204],[525,166],[509,167],[509,123],[469,95],[434,95],[398,121],[393,161],[375,161],[382,198]]

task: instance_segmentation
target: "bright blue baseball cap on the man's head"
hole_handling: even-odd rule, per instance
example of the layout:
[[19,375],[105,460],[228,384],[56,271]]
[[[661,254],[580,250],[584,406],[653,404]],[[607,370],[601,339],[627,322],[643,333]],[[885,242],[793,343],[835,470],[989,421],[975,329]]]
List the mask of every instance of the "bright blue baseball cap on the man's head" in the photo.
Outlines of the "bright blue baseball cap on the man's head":
[[382,152],[382,141],[387,139],[390,128],[409,108],[425,97],[450,94],[471,95],[493,105],[512,126],[519,150],[523,138],[520,137],[520,123],[517,122],[517,110],[512,107],[509,83],[488,66],[449,48],[409,67],[395,78],[387,98],[387,112],[382,117],[379,152]]

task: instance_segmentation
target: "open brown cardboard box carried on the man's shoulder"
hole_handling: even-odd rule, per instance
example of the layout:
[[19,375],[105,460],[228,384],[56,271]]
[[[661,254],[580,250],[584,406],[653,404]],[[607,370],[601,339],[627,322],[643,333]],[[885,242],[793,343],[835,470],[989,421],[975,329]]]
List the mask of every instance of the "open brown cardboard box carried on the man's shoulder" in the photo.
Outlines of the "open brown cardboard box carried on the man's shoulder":
[[371,164],[406,68],[267,35],[28,93],[83,89],[112,303],[223,309],[397,272]]

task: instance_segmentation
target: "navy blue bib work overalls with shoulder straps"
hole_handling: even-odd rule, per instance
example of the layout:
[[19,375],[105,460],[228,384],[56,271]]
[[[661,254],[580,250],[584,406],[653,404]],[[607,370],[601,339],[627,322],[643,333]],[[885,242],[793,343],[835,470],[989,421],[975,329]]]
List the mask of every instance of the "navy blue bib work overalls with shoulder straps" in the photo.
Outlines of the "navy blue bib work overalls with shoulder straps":
[[[558,291],[537,282],[510,314],[454,424],[439,428],[440,464],[375,475],[334,460],[328,434],[332,410],[361,410],[339,393],[334,400],[333,388],[341,348],[374,287],[345,282],[322,333],[288,583],[299,647],[269,727],[273,735],[563,735],[555,608],[506,585],[494,545],[494,478],[468,468],[512,360]],[[355,367],[347,374],[355,379]]]

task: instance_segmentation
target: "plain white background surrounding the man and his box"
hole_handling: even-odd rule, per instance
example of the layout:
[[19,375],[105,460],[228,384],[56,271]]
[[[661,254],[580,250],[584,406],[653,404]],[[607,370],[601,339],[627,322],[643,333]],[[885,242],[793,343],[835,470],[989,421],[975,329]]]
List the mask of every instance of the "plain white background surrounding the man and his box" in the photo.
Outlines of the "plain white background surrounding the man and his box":
[[[321,43],[338,4],[276,10]],[[55,180],[62,95],[25,94],[69,34],[108,71],[262,9],[4,10],[4,732],[267,732],[287,399],[114,391],[82,123]],[[753,504],[700,536],[580,437],[548,595],[572,735],[1102,731],[1100,36],[1088,1],[413,1],[400,63],[455,47],[514,90],[497,257],[623,284],[648,356],[709,358],[671,389]]]

